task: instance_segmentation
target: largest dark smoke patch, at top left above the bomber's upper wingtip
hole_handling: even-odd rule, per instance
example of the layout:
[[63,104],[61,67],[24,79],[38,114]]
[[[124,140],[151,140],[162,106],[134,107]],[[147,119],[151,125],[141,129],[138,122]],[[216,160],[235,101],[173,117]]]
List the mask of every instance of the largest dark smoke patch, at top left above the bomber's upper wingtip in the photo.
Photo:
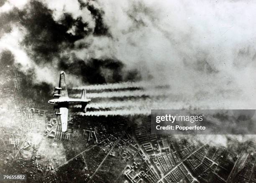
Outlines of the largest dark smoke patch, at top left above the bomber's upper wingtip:
[[[52,11],[38,1],[31,1],[24,10],[15,8],[0,19],[5,24],[20,23],[26,28],[22,43],[31,49],[28,53],[36,63],[51,62],[54,56],[59,56],[61,49],[74,46],[75,41],[84,38],[90,31],[84,29],[87,23],[83,23],[81,18],[74,20],[68,13],[64,13],[59,22],[54,21]],[[75,35],[67,33],[73,25],[76,26]]]

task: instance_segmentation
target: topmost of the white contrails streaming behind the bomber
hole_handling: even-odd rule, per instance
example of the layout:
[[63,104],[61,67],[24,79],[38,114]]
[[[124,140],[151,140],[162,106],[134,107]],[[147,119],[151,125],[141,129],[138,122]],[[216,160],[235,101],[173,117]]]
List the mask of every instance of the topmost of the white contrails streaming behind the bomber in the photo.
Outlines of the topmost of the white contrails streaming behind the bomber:
[[87,90],[100,90],[100,89],[125,89],[125,88],[141,88],[149,87],[152,84],[140,81],[140,82],[122,82],[122,83],[113,83],[113,84],[97,84],[97,85],[88,85],[88,86],[77,86],[72,89],[87,89]]

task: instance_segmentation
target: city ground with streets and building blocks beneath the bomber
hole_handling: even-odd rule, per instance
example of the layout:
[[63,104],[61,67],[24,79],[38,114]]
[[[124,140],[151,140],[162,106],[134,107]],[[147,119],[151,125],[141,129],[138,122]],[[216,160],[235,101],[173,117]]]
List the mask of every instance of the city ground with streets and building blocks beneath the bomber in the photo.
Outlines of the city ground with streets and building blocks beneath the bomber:
[[[225,145],[214,145],[205,144],[197,135],[154,135],[150,132],[150,114],[133,112],[129,105],[115,106],[124,98],[115,97],[116,91],[133,93],[135,96],[125,99],[131,103],[152,98],[143,88],[125,88],[127,83],[111,86],[119,89],[108,89],[106,84],[88,86],[87,95],[94,104],[88,104],[86,113],[80,112],[79,105],[70,106],[68,128],[62,132],[59,115],[44,100],[51,95],[36,89],[35,96],[24,93],[20,88],[28,84],[20,81],[24,75],[13,66],[5,67],[2,77],[7,81],[1,90],[1,101],[5,102],[0,111],[1,173],[26,174],[28,182],[45,183],[256,182],[253,140],[239,142],[230,135]],[[77,89],[70,91],[74,96],[77,93]],[[144,94],[136,96],[137,91]],[[110,97],[97,97],[104,92]],[[32,99],[24,100],[26,96]],[[128,115],[129,110],[134,114]],[[224,137],[214,138],[212,141]]]

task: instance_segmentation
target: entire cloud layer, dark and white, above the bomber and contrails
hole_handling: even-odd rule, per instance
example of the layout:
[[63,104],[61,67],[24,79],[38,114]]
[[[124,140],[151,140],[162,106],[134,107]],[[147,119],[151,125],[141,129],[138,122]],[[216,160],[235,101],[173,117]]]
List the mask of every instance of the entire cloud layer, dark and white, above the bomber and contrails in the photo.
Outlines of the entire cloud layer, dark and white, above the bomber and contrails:
[[256,92],[254,4],[6,1],[1,8],[11,8],[1,11],[0,35],[2,40],[23,28],[20,44],[9,50],[17,62],[17,50],[23,51],[38,82],[54,83],[62,69],[71,80],[79,78],[76,84],[161,81],[195,106],[250,109]]

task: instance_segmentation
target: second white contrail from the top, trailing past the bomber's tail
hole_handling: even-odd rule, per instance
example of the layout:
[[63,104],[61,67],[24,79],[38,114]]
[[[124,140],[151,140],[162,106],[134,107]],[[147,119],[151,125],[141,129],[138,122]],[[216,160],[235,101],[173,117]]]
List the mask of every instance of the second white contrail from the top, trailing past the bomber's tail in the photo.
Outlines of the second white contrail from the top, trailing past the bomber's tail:
[[[113,97],[142,97],[146,96],[164,96],[167,94],[171,94],[169,90],[166,89],[154,89],[154,90],[135,90],[135,91],[107,91],[101,93],[87,93],[86,96],[89,99],[92,98],[113,98]],[[80,97],[81,94],[72,94],[71,97]]]

